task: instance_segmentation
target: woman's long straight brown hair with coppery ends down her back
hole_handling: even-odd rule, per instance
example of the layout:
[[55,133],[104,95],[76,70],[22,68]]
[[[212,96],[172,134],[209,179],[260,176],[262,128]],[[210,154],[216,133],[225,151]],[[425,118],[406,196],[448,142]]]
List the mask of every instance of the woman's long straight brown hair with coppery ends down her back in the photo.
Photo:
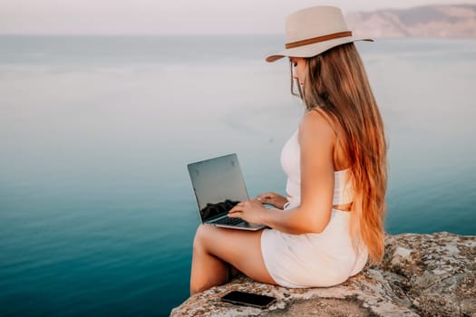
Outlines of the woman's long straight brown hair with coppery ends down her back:
[[[351,236],[368,247],[370,261],[384,255],[384,214],[387,186],[384,122],[354,43],[306,58],[304,91],[307,110],[319,109],[333,120],[350,163],[354,187]],[[341,138],[341,134],[342,138]]]

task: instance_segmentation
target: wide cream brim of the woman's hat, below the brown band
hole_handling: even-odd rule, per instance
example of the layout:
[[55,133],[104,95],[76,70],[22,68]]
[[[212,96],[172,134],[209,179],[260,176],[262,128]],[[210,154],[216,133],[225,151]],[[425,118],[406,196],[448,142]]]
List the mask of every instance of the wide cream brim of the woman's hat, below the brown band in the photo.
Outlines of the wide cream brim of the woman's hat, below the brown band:
[[267,56],[266,61],[276,62],[277,60],[280,60],[283,57],[287,57],[287,56],[288,57],[313,57],[320,53],[324,53],[325,51],[330,50],[331,48],[335,46],[339,46],[345,43],[353,43],[357,41],[374,42],[374,40],[370,38],[360,38],[360,37],[354,37],[354,36],[342,37],[342,38],[337,38],[337,39],[333,39],[333,40],[329,40],[325,42],[312,43],[308,45],[290,48],[285,51]]

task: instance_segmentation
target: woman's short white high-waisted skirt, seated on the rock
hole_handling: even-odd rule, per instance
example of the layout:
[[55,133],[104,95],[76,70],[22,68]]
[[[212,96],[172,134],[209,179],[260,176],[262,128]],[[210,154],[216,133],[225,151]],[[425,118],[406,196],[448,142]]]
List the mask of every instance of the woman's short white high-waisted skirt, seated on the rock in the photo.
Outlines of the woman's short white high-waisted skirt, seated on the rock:
[[[285,210],[296,207],[291,202]],[[329,224],[320,234],[289,235],[265,229],[261,253],[268,273],[286,287],[325,287],[345,282],[362,271],[368,252],[349,235],[350,213],[333,209]]]

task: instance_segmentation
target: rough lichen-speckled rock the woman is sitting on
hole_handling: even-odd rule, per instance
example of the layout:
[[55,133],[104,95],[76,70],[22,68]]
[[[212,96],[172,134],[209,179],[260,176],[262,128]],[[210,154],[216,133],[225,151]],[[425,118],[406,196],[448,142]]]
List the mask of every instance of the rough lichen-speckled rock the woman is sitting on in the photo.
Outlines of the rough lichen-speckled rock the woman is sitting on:
[[[474,316],[476,236],[387,235],[384,261],[345,283],[289,289],[239,276],[191,296],[171,316]],[[220,302],[230,291],[277,298],[268,309]]]

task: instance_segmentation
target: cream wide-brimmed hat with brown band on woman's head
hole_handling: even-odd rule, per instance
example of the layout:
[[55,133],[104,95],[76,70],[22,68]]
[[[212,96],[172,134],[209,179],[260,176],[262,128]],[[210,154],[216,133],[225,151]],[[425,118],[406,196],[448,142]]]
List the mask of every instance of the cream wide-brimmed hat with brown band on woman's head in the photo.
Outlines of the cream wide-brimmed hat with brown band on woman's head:
[[335,46],[355,41],[374,41],[355,38],[345,24],[344,14],[334,6],[313,6],[289,14],[286,20],[286,50],[267,56],[275,62],[285,56],[312,57]]

